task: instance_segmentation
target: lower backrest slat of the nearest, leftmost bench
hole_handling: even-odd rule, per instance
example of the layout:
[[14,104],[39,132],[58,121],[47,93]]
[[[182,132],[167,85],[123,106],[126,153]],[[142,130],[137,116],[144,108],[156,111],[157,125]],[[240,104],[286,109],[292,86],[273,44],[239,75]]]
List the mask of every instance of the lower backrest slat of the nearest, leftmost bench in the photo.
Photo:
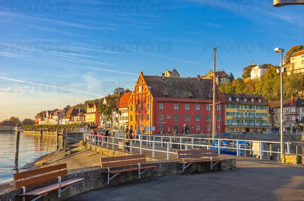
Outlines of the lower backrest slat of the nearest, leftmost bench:
[[21,188],[23,186],[28,186],[28,185],[39,183],[39,182],[42,182],[42,181],[54,179],[56,177],[62,177],[64,175],[67,175],[67,170],[66,169],[65,170],[60,170],[60,171],[57,171],[57,172],[52,172],[50,174],[45,174],[45,175],[29,178],[29,179],[24,179],[24,180],[21,180],[21,181],[17,181],[15,183],[15,188],[18,189],[18,188]]

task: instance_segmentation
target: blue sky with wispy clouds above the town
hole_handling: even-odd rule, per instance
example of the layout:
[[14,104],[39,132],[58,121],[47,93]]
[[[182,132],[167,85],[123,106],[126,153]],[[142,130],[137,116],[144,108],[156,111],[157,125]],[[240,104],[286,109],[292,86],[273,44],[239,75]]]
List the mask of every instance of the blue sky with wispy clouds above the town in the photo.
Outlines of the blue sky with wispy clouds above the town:
[[2,1],[0,120],[132,88],[139,71],[240,77],[304,44],[304,7],[273,1]]

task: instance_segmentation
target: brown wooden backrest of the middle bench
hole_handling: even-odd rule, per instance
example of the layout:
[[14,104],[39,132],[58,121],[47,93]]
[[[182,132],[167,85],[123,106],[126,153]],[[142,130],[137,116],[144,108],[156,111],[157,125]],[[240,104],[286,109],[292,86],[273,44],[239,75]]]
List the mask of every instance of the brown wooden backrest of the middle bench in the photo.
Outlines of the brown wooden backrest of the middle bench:
[[147,160],[145,158],[145,154],[100,158],[101,168],[112,168],[119,166],[134,165],[139,163],[145,163],[146,161]]

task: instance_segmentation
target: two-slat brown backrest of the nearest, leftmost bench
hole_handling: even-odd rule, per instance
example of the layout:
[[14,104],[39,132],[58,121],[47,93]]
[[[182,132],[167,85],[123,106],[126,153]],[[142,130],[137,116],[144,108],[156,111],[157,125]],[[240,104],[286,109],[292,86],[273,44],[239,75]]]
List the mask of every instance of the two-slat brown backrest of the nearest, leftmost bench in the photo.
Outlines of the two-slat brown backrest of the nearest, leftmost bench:
[[[40,175],[40,176],[36,176],[36,175]],[[64,175],[67,175],[66,164],[59,164],[55,166],[49,166],[35,170],[15,173],[13,176],[14,176],[14,180],[23,179],[15,183],[15,188],[18,189],[23,186],[28,186],[42,181],[54,179],[57,177],[62,177]]]

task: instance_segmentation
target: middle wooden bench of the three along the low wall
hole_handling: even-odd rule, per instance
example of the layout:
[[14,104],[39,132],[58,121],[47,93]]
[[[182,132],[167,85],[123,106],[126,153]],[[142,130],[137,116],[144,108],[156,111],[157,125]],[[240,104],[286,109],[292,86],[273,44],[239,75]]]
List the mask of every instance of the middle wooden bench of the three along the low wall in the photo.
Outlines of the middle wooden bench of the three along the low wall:
[[[130,172],[138,170],[138,179],[140,179],[140,175],[145,173],[148,169],[156,168],[157,166],[141,166],[142,163],[146,163],[145,154],[135,154],[135,155],[124,155],[124,156],[114,156],[114,157],[104,157],[100,158],[101,161],[101,168],[106,168],[107,171],[107,184],[117,175],[121,174],[122,172]],[[138,164],[136,168],[128,168],[128,169],[121,169],[121,170],[113,170],[110,171],[110,168],[114,167],[125,167],[129,165]],[[141,172],[141,170],[144,170]],[[110,174],[115,174],[110,177]]]

